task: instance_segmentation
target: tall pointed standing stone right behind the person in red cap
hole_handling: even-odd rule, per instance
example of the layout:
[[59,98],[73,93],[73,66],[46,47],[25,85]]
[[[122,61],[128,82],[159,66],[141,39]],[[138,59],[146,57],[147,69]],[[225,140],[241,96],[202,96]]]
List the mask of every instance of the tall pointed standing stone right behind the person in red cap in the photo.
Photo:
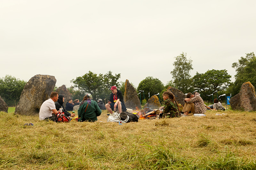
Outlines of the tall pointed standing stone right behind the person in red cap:
[[131,85],[129,80],[126,79],[124,84],[124,104],[126,108],[131,108],[133,110],[140,109],[140,99],[137,95],[136,89]]

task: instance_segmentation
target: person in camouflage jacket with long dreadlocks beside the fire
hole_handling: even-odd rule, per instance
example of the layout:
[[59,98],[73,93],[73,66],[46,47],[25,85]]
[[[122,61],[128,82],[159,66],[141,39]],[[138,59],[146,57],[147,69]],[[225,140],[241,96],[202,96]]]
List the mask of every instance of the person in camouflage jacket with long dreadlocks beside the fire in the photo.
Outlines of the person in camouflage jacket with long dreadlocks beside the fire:
[[180,110],[174,95],[171,92],[163,93],[164,109],[160,110],[159,118],[180,117]]

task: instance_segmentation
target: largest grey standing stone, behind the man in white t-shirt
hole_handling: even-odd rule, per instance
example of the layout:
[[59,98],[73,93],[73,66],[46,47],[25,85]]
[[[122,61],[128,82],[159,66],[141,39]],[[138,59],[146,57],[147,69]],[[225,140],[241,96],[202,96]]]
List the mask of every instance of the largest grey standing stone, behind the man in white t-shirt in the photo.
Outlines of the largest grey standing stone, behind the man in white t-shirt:
[[20,95],[15,114],[36,115],[45,100],[50,98],[56,79],[49,75],[36,75],[26,83]]

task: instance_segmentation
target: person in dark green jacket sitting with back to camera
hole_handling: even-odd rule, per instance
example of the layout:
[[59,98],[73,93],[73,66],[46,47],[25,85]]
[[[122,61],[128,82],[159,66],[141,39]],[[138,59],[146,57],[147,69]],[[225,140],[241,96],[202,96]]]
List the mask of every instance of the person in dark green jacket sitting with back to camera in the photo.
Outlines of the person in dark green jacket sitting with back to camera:
[[77,112],[78,117],[80,118],[78,122],[95,122],[98,120],[97,116],[100,116],[101,114],[101,110],[97,102],[91,100],[89,95],[84,96],[84,99],[80,103],[80,107]]

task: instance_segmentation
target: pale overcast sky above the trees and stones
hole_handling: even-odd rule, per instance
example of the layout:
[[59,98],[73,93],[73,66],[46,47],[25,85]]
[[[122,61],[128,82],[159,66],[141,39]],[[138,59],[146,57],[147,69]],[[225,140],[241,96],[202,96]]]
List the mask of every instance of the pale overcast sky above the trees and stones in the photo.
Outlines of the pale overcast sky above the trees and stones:
[[56,86],[91,70],[121,73],[136,87],[172,80],[174,57],[191,76],[228,70],[256,52],[255,0],[1,0],[0,77],[55,76]]

